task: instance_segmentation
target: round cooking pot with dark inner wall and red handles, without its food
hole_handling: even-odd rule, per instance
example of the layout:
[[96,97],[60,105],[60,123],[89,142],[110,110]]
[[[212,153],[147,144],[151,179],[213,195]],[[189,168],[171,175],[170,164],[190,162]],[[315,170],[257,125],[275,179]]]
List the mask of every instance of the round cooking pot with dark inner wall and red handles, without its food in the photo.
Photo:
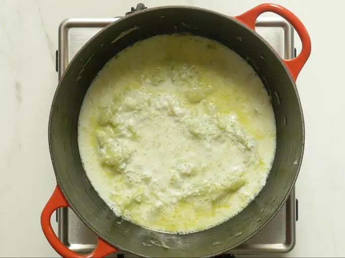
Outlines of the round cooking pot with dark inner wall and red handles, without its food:
[[[264,12],[284,17],[296,29],[302,41],[296,58],[283,60],[255,32],[255,21]],[[157,232],[122,221],[90,184],[78,150],[79,111],[95,75],[124,48],[164,33],[211,38],[243,57],[264,83],[277,125],[277,150],[262,191],[235,217],[190,234]],[[49,243],[60,255],[68,257],[100,257],[118,249],[148,257],[202,257],[221,254],[253,237],[286,202],[299,172],[304,120],[295,80],[310,51],[310,38],[301,21],[274,4],[259,5],[235,17],[186,6],[150,8],[130,13],[101,30],[68,65],[51,106],[49,148],[57,187],[41,216]],[[92,253],[77,254],[59,241],[50,224],[52,213],[59,207],[71,207],[98,236],[98,245]]]

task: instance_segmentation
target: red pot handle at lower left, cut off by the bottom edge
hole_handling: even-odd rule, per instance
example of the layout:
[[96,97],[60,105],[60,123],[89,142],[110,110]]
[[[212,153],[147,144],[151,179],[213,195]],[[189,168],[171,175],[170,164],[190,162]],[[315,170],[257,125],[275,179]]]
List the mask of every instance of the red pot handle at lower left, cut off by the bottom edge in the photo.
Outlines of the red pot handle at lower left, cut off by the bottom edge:
[[44,207],[42,214],[41,214],[41,226],[43,233],[45,234],[48,242],[51,246],[62,256],[62,257],[104,257],[112,252],[117,251],[117,249],[104,240],[98,238],[97,247],[89,254],[79,254],[76,253],[64,244],[61,243],[59,238],[53,231],[52,225],[50,223],[50,218],[53,212],[57,208],[61,207],[69,207],[66,199],[64,198],[60,188],[56,186],[53,195],[50,197],[48,203]]

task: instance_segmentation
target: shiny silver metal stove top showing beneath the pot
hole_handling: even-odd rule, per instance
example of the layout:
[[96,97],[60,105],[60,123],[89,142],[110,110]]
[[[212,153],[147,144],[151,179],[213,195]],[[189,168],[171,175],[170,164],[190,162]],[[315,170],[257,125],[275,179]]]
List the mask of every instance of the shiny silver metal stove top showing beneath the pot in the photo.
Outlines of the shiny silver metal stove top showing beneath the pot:
[[[99,30],[119,18],[67,19],[59,26],[58,74],[59,77],[80,48]],[[257,32],[284,58],[293,57],[293,28],[281,18],[261,18],[257,21]],[[295,191],[277,216],[256,236],[231,253],[278,253],[288,252],[295,245]],[[57,211],[58,236],[69,248],[86,253],[94,249],[95,235],[71,209]],[[119,253],[119,252],[118,252]],[[117,253],[117,254],[118,254]],[[116,257],[115,255],[112,255]],[[126,253],[125,257],[136,257]]]

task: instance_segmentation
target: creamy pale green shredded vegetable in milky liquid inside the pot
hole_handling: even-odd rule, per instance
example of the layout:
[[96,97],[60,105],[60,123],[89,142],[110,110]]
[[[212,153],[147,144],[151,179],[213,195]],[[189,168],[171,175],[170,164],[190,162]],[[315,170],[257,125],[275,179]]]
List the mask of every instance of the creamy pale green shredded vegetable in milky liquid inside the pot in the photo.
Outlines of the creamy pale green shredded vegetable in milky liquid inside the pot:
[[78,141],[90,182],[125,220],[189,233],[233,217],[265,185],[275,151],[269,97],[216,41],[159,35],[95,77]]

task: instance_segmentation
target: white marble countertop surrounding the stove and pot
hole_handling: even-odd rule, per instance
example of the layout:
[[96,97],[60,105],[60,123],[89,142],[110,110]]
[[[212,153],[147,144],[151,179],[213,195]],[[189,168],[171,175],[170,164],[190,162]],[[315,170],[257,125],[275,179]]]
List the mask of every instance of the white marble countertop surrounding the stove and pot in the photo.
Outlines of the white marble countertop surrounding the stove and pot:
[[[146,0],[228,15],[263,1]],[[342,1],[275,1],[293,11],[312,37],[312,55],[297,85],[306,142],[296,185],[297,243],[285,256],[345,255],[345,162]],[[0,0],[0,256],[56,257],[40,226],[55,177],[48,115],[57,85],[57,28],[64,18],[119,16],[137,1]],[[297,45],[298,46],[298,45]]]

